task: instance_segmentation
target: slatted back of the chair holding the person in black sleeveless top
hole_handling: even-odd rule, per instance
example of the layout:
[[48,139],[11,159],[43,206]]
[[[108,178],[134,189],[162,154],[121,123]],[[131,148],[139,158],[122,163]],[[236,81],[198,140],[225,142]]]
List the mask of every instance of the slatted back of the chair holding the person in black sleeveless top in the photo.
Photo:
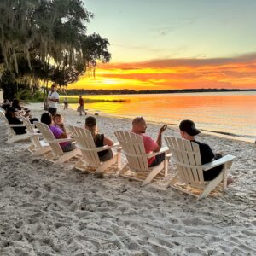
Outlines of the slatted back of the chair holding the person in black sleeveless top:
[[84,128],[72,125],[67,126],[67,129],[72,133],[76,141],[76,147],[81,150],[84,160],[89,165],[100,165],[101,161],[97,154],[96,145],[91,132]]

